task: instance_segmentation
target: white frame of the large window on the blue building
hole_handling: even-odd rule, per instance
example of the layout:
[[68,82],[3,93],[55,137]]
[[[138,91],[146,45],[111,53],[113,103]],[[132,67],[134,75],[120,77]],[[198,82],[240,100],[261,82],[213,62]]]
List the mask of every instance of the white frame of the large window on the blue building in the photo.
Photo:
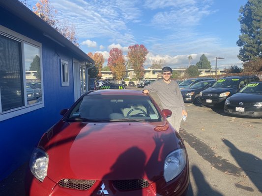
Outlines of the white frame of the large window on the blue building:
[[37,103],[33,103],[33,104],[27,104],[27,99],[26,99],[26,95],[25,95],[25,105],[22,107],[18,107],[18,108],[14,108],[8,111],[4,111],[2,112],[1,109],[1,102],[0,102],[0,122],[22,115],[22,114],[26,114],[28,112],[37,110],[39,108],[44,107],[44,88],[43,88],[43,65],[42,65],[42,44],[32,40],[20,33],[17,33],[9,28],[6,28],[2,25],[0,25],[0,34],[2,36],[5,36],[7,38],[16,40],[21,42],[21,55],[22,55],[22,72],[23,72],[23,87],[24,87],[24,92],[26,92],[26,68],[25,68],[25,53],[24,53],[24,44],[29,44],[32,46],[35,46],[37,48],[39,48],[39,54],[40,54],[40,72],[41,72],[41,92],[42,92],[42,100],[41,102],[37,102]]

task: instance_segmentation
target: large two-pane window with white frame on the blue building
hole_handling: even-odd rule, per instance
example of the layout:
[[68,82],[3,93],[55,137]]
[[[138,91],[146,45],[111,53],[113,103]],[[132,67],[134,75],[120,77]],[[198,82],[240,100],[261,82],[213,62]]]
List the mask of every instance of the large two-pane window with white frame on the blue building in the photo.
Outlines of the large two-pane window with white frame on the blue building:
[[43,107],[41,44],[0,25],[0,121]]

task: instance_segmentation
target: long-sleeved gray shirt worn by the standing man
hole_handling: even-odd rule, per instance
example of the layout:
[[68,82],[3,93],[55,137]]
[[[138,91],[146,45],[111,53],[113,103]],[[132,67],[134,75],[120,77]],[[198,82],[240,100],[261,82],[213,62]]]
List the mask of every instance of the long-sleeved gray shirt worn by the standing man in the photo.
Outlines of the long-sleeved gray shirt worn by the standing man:
[[158,79],[148,86],[145,86],[144,89],[147,89],[149,93],[156,92],[164,109],[172,110],[177,107],[182,107],[182,109],[185,110],[184,100],[175,80],[171,80],[168,84],[163,79]]

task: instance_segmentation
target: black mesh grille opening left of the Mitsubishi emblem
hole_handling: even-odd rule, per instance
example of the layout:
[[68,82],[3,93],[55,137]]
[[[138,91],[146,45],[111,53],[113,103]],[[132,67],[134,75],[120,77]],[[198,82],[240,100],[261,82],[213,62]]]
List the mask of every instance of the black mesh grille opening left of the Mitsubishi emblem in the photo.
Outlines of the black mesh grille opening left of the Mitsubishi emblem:
[[94,183],[95,180],[62,179],[58,185],[68,189],[88,190]]

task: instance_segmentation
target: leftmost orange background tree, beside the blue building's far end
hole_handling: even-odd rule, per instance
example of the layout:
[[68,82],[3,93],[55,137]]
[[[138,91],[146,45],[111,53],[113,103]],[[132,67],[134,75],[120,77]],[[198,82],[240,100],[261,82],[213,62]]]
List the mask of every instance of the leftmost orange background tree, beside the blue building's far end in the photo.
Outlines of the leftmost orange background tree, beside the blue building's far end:
[[103,64],[105,62],[103,54],[99,52],[95,52],[94,54],[92,54],[92,52],[89,52],[87,55],[91,57],[95,62],[94,67],[91,68],[88,71],[88,73],[90,75],[94,75],[95,78],[101,78],[102,76],[101,71],[102,71]]

